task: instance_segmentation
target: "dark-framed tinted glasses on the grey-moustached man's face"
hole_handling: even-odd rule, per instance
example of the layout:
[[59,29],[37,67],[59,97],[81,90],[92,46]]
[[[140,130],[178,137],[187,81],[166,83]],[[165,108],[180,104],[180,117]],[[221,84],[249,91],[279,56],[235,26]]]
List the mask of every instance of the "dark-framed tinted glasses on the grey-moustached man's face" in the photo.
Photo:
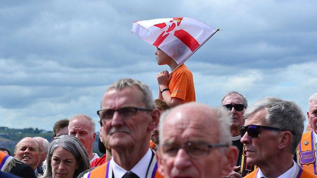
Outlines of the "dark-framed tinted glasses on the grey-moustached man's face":
[[115,111],[119,112],[121,118],[128,119],[132,118],[136,115],[138,111],[152,111],[153,109],[146,109],[146,108],[138,108],[138,107],[124,107],[120,109],[104,109],[97,111],[99,115],[100,121],[99,124],[102,126],[102,120],[108,121],[113,118],[113,114]]

